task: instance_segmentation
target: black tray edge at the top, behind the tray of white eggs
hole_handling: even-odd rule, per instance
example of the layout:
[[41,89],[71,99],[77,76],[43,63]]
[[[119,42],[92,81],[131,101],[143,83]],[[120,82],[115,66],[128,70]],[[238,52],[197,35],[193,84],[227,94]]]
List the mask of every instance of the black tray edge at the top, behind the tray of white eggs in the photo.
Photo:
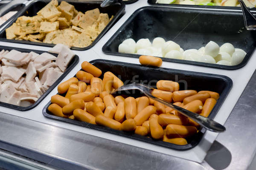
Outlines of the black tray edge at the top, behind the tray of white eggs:
[[[215,8],[215,9],[238,9],[241,10],[241,7],[237,6],[206,6],[206,5],[182,5],[182,4],[165,4],[165,3],[156,3],[157,0],[148,0],[148,4],[153,6],[180,6],[180,7],[190,7],[190,8]],[[250,8],[250,10],[255,10],[255,8]]]

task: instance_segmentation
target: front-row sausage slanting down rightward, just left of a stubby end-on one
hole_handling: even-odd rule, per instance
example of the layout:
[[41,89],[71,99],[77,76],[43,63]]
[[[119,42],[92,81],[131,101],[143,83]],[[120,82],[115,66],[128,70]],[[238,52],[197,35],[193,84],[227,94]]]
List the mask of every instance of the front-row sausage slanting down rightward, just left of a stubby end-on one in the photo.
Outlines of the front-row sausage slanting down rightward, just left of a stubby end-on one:
[[121,126],[120,122],[117,122],[116,120],[111,119],[111,118],[106,117],[106,116],[101,115],[101,114],[96,116],[95,122],[96,122],[97,125],[110,127],[112,129],[115,129],[115,130],[119,130],[120,126]]

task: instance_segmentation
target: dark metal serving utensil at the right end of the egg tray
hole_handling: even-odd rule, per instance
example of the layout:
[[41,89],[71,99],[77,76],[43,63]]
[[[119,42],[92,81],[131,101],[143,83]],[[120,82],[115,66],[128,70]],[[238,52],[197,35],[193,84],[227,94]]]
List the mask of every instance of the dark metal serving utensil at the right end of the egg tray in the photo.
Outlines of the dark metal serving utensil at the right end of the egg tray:
[[256,18],[247,8],[243,0],[238,0],[243,11],[244,26],[247,30],[256,30]]

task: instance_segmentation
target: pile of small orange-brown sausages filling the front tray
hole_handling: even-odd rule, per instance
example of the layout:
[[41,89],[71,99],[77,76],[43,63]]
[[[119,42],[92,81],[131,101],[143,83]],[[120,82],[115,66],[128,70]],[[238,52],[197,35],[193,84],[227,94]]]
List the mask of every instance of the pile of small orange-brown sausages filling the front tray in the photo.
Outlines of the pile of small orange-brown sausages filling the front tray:
[[[179,145],[187,144],[186,138],[198,132],[196,122],[146,96],[111,95],[123,85],[113,73],[105,72],[100,79],[102,71],[89,62],[83,62],[81,68],[76,77],[58,85],[60,95],[52,96],[48,107],[53,115]],[[179,84],[168,80],[159,80],[152,95],[205,117],[219,98],[212,91],[179,91]]]

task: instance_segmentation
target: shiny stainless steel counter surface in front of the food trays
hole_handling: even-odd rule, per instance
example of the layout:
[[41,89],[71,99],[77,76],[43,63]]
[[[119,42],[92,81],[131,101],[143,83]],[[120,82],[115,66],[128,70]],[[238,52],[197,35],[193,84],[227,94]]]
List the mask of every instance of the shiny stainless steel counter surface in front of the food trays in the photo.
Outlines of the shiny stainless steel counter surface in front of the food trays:
[[251,163],[253,170],[255,96],[256,72],[225,123],[227,131],[218,136],[201,164],[6,113],[0,113],[0,148],[65,170],[246,170]]

